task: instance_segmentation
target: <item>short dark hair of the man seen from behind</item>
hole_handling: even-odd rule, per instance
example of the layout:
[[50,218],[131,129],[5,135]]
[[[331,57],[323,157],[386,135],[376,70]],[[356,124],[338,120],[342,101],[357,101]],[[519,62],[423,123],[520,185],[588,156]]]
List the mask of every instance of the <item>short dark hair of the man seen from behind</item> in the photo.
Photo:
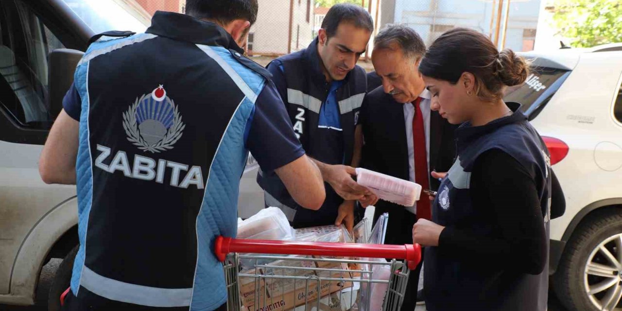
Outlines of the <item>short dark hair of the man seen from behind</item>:
[[236,19],[257,21],[258,0],[186,0],[186,14],[200,19],[210,19],[221,25]]

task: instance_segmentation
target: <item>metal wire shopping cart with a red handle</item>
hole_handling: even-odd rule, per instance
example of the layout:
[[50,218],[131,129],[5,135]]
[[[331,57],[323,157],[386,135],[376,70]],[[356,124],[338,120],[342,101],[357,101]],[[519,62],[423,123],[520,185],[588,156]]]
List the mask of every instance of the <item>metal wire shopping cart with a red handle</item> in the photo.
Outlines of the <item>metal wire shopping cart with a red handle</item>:
[[419,244],[222,236],[215,253],[225,269],[229,311],[396,311],[421,259]]

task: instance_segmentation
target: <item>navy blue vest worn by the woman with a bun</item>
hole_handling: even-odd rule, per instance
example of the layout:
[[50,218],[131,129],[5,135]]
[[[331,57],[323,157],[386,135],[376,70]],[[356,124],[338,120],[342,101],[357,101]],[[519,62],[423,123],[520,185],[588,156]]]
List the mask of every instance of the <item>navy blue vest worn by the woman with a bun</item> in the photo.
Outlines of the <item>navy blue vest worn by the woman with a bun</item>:
[[[549,152],[541,137],[527,117],[520,111],[517,103],[506,103],[514,111],[511,116],[494,120],[485,126],[473,127],[465,123],[456,130],[458,158],[449,170],[447,177],[442,180],[434,204],[432,205],[432,220],[442,226],[453,226],[457,223],[469,221],[471,230],[481,235],[493,232],[494,224],[478,221],[473,217],[476,210],[471,205],[470,179],[475,160],[483,152],[491,149],[501,149],[523,165],[534,176],[538,196],[540,198],[542,215],[544,216],[547,243],[549,237],[549,208],[550,208],[550,159]],[[548,247],[547,247],[548,249]],[[469,254],[464,254],[469,256]],[[548,256],[547,256],[548,257]],[[548,262],[548,258],[547,258]],[[430,301],[428,310],[466,310],[466,300],[479,300],[476,297],[482,293],[496,293],[496,289],[486,289],[494,285],[499,271],[472,271],[463,267],[463,262],[451,256],[443,256],[436,247],[425,250],[425,277],[434,279],[439,288],[427,288],[426,292],[440,293],[435,297],[447,296],[443,301]],[[491,305],[501,306],[499,310],[529,310],[544,311],[547,307],[547,291],[549,285],[549,265],[544,271],[535,276],[531,274],[513,274],[512,285],[503,289],[503,297],[486,295],[499,301],[490,302]],[[461,300],[462,304],[461,305]]]

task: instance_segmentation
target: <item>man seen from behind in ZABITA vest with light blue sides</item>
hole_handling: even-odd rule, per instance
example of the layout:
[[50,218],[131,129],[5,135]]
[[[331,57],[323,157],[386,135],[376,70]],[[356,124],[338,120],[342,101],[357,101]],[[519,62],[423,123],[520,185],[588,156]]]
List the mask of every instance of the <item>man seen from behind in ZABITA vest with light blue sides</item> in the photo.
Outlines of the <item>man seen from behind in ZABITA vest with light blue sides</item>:
[[77,183],[65,310],[226,307],[216,236],[235,236],[248,151],[300,206],[325,198],[271,74],[240,49],[256,0],[188,0],[144,34],[93,38],[40,159]]

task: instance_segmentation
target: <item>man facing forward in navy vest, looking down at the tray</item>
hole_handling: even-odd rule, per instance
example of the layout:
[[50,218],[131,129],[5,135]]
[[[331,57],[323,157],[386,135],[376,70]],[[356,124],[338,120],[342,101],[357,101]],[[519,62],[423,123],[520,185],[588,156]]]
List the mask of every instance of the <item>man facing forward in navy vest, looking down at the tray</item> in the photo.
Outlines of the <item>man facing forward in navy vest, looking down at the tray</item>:
[[266,207],[279,207],[294,228],[355,222],[355,202],[377,198],[351,177],[355,127],[366,92],[366,73],[356,62],[367,49],[374,26],[371,16],[354,4],[331,7],[322,29],[307,49],[273,60],[267,66],[283,98],[296,137],[315,160],[326,186],[318,211],[299,207],[270,170],[260,170]]

